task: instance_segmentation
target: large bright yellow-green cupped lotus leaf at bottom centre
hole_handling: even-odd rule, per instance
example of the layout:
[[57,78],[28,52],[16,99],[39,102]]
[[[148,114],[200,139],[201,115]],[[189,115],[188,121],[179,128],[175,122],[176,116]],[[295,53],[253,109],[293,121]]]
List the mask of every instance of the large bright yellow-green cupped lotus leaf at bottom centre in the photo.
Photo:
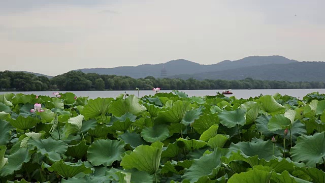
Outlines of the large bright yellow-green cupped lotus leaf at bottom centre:
[[152,143],[150,146],[140,145],[131,154],[125,155],[120,165],[124,169],[136,168],[150,174],[156,173],[159,168],[163,145],[161,142]]

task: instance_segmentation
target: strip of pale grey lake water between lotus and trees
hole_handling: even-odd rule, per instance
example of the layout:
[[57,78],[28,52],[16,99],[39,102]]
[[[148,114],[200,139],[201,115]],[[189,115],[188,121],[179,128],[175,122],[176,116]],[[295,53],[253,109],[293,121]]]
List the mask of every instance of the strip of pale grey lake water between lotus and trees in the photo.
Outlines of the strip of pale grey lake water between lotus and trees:
[[[180,92],[185,92],[189,97],[192,96],[214,96],[216,95],[217,92],[222,92],[222,89],[209,89],[209,90],[179,90]],[[66,93],[66,91],[59,91],[60,93]],[[170,93],[172,90],[160,90],[159,93]],[[263,95],[274,95],[276,93],[279,93],[281,95],[288,95],[288,96],[293,96],[293,97],[299,97],[303,98],[305,95],[312,93],[312,92],[319,92],[320,94],[325,93],[325,89],[233,89],[232,92],[234,93],[233,95],[228,95],[230,96],[235,96],[236,98],[240,99],[248,99],[249,97],[256,97],[261,94]],[[0,94],[5,94],[8,92],[0,92]],[[47,96],[52,96],[53,92],[50,91],[45,91],[45,92],[11,92],[14,94],[22,93],[22,94],[35,94],[35,95],[47,95]],[[115,98],[119,94],[124,94],[124,91],[75,91],[72,92],[76,94],[77,97],[84,97],[88,96],[90,99],[95,99],[98,97],[101,98],[108,98],[112,97]],[[126,91],[127,94],[129,95],[136,95],[138,96],[138,91],[137,90],[129,90]],[[139,96],[145,96],[145,95],[154,95],[155,92],[152,90],[140,90],[139,91]]]

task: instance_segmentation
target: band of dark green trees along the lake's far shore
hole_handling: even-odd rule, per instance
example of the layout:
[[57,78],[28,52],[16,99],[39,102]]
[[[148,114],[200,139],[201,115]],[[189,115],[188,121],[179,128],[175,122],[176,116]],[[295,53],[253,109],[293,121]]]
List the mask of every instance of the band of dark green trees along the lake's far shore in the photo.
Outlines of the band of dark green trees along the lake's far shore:
[[131,78],[128,76],[100,75],[95,73],[83,73],[70,71],[53,78],[36,76],[24,72],[0,72],[1,91],[44,91],[44,90],[150,90],[160,87],[163,90],[186,90],[186,89],[304,89],[325,88],[324,82],[288,82],[288,81],[265,81],[245,78],[243,80],[215,80],[203,81],[189,78],[171,79],[155,78]]

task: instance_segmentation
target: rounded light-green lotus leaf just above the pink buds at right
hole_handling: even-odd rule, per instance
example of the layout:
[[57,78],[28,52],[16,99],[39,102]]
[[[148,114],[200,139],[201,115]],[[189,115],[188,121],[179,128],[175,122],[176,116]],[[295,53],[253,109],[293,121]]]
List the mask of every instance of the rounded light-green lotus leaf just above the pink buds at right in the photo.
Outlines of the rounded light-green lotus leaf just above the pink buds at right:
[[269,120],[268,129],[269,131],[276,131],[276,130],[285,130],[290,129],[291,121],[283,114],[276,114]]

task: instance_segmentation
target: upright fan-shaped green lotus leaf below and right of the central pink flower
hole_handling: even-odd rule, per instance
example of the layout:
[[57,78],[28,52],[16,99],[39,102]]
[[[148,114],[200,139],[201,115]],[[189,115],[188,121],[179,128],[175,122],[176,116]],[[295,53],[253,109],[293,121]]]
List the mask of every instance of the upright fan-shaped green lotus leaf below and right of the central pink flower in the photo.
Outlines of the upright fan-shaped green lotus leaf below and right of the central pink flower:
[[188,101],[176,101],[169,110],[158,112],[156,120],[161,123],[180,123],[188,109]]

